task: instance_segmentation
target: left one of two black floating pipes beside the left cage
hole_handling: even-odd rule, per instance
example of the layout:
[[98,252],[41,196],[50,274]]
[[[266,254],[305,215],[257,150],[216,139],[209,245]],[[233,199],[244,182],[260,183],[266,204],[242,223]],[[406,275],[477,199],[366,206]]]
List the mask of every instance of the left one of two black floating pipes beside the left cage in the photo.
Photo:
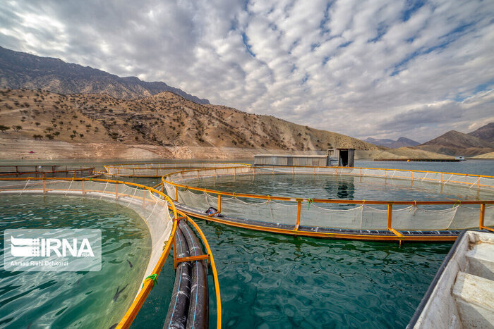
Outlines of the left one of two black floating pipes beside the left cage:
[[[190,252],[181,230],[176,230],[176,256],[188,257]],[[191,297],[191,262],[179,263],[175,271],[175,285],[163,328],[185,328]]]

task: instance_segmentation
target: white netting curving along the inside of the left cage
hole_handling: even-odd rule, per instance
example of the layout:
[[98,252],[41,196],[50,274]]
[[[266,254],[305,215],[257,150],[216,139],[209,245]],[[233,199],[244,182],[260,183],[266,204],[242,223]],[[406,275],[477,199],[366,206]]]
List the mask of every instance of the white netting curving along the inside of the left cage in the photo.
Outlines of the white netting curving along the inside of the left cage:
[[95,180],[0,180],[0,194],[58,194],[114,201],[133,209],[147,224],[151,236],[151,254],[143,278],[151,275],[164,244],[169,240],[173,213],[166,200],[149,190],[126,184]]

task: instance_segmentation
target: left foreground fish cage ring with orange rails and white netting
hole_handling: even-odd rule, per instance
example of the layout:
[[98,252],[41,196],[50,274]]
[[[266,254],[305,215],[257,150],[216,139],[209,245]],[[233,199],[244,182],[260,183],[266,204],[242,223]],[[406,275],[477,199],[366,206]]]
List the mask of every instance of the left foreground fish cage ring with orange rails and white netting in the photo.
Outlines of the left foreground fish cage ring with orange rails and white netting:
[[[67,170],[66,173],[69,171]],[[119,319],[117,323],[112,325],[112,328],[116,328],[117,325],[119,328],[130,327],[152,287],[157,283],[159,273],[167,261],[171,247],[177,244],[183,251],[179,254],[177,248],[174,247],[173,259],[174,268],[176,268],[176,280],[174,295],[171,297],[169,305],[167,324],[172,327],[185,325],[188,319],[193,318],[194,328],[207,327],[209,299],[207,297],[206,275],[207,266],[210,266],[215,283],[217,326],[221,328],[219,283],[209,244],[198,225],[185,213],[176,209],[166,194],[152,187],[133,182],[98,178],[0,178],[0,197],[11,195],[29,197],[35,194],[115,202],[137,213],[147,225],[150,232],[151,252],[147,256],[144,275],[139,278],[138,283],[133,283],[127,288],[126,294],[130,293],[133,301],[123,314],[112,314]],[[198,232],[206,250],[205,253],[187,223],[193,225],[195,231]],[[7,252],[4,249],[6,256],[11,256]],[[130,262],[128,264],[132,267]],[[125,265],[127,266],[127,263]],[[184,266],[191,269],[187,283],[183,283],[181,280],[180,271]],[[193,284],[195,285],[193,286]],[[126,287],[116,287],[114,302]],[[134,288],[135,290],[129,291]],[[176,299],[178,300],[179,297],[181,300],[177,302]],[[194,302],[189,302],[189,300]]]

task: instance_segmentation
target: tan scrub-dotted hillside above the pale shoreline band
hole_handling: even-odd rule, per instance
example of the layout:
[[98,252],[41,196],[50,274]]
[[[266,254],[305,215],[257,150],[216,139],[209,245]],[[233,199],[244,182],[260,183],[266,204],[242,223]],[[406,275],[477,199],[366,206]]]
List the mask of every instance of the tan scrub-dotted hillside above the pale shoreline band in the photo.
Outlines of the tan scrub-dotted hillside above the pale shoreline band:
[[0,91],[0,138],[145,147],[237,147],[325,151],[379,149],[335,132],[234,108],[201,105],[172,92],[123,100],[104,94]]

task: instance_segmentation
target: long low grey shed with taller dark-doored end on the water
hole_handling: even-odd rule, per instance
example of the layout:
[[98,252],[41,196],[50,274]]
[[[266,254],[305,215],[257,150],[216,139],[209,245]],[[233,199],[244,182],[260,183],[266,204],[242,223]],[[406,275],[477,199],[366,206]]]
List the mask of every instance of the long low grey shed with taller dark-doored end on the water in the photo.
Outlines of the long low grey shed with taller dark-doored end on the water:
[[355,149],[328,149],[325,155],[256,154],[255,166],[353,167]]

